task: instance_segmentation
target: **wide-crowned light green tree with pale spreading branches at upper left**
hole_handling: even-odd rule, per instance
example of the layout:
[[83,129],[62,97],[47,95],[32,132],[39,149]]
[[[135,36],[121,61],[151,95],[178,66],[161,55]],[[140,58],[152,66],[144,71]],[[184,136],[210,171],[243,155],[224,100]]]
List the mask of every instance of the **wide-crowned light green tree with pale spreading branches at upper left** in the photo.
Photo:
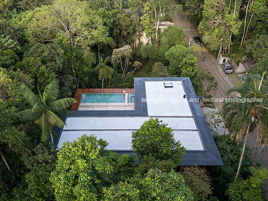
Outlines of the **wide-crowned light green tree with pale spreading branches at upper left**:
[[36,41],[52,41],[57,33],[62,34],[72,47],[80,45],[86,50],[87,45],[94,43],[102,23],[84,1],[55,0],[52,5],[42,6],[36,12],[28,24],[27,33],[30,40]]

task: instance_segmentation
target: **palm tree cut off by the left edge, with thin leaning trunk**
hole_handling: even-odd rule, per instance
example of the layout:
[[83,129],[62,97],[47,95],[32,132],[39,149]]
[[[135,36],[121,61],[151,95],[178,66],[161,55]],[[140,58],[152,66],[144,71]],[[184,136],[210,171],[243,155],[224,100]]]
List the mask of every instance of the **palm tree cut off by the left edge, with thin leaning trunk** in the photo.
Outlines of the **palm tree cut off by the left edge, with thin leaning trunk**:
[[30,152],[27,148],[28,139],[23,131],[19,131],[14,125],[19,119],[18,110],[14,108],[7,108],[0,111],[0,155],[7,167],[11,169],[6,162],[2,150],[12,150],[17,153]]

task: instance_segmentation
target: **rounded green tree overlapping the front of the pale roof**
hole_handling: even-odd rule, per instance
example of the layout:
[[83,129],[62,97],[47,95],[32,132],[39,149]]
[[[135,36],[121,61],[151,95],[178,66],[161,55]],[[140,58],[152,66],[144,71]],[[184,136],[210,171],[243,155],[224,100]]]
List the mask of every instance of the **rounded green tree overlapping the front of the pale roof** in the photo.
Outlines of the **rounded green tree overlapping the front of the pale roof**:
[[172,159],[176,165],[181,162],[185,148],[175,141],[173,131],[158,118],[149,118],[140,128],[132,132],[132,148],[139,155],[150,155],[156,159]]

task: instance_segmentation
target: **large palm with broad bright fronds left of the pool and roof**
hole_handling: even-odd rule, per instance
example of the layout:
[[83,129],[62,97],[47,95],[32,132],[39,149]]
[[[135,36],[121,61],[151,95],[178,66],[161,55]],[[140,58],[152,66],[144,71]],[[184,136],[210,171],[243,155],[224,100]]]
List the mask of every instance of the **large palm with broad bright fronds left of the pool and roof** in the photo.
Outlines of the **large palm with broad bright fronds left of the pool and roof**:
[[[37,87],[38,91],[39,88]],[[20,87],[20,92],[26,98],[32,108],[19,112],[23,120],[37,118],[37,123],[41,128],[41,142],[46,142],[52,137],[53,126],[62,128],[65,122],[59,115],[69,115],[71,112],[67,110],[69,106],[76,102],[74,98],[66,97],[57,100],[59,87],[58,81],[53,79],[44,89],[39,97],[35,95],[25,84]]]

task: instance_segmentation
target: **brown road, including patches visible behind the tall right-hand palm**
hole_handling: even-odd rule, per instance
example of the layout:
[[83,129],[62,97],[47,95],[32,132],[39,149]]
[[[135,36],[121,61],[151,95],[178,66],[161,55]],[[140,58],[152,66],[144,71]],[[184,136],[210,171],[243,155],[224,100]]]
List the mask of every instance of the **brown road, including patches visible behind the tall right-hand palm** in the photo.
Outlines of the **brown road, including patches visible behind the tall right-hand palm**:
[[[229,82],[229,80],[227,80],[228,81],[227,83],[226,79],[223,78],[225,74],[222,71],[220,71],[221,69],[218,63],[216,62],[216,59],[212,55],[209,55],[207,53],[207,51],[205,50],[202,44],[193,43],[193,40],[190,41],[190,38],[193,38],[194,36],[198,36],[198,35],[196,34],[195,30],[191,26],[190,22],[186,19],[186,17],[184,17],[184,14],[182,11],[178,11],[176,14],[172,14],[171,18],[176,25],[184,28],[184,33],[186,35],[185,39],[188,44],[190,45],[195,44],[196,46],[197,45],[200,46],[200,47],[197,47],[199,51],[197,51],[196,48],[195,48],[195,51],[193,51],[194,55],[197,58],[198,70],[205,71],[205,69],[208,69],[211,72],[211,74],[215,76],[215,80],[218,82],[218,89],[212,92],[212,96],[214,98],[222,98],[222,97],[225,98],[226,91],[230,88],[230,86],[233,86],[233,85]],[[204,56],[205,56],[205,59],[203,61],[202,57]],[[234,96],[235,94],[232,94],[232,95]],[[215,102],[214,105],[216,106],[218,111],[221,110],[222,102]],[[248,135],[248,139],[246,143],[252,149],[252,151],[254,150],[255,142],[256,142],[256,131]],[[258,161],[262,164],[262,166],[268,168],[268,146],[267,145],[263,148],[261,156],[259,157]],[[262,187],[266,190],[266,199],[268,200],[268,181],[267,180],[264,184],[262,184]]]

